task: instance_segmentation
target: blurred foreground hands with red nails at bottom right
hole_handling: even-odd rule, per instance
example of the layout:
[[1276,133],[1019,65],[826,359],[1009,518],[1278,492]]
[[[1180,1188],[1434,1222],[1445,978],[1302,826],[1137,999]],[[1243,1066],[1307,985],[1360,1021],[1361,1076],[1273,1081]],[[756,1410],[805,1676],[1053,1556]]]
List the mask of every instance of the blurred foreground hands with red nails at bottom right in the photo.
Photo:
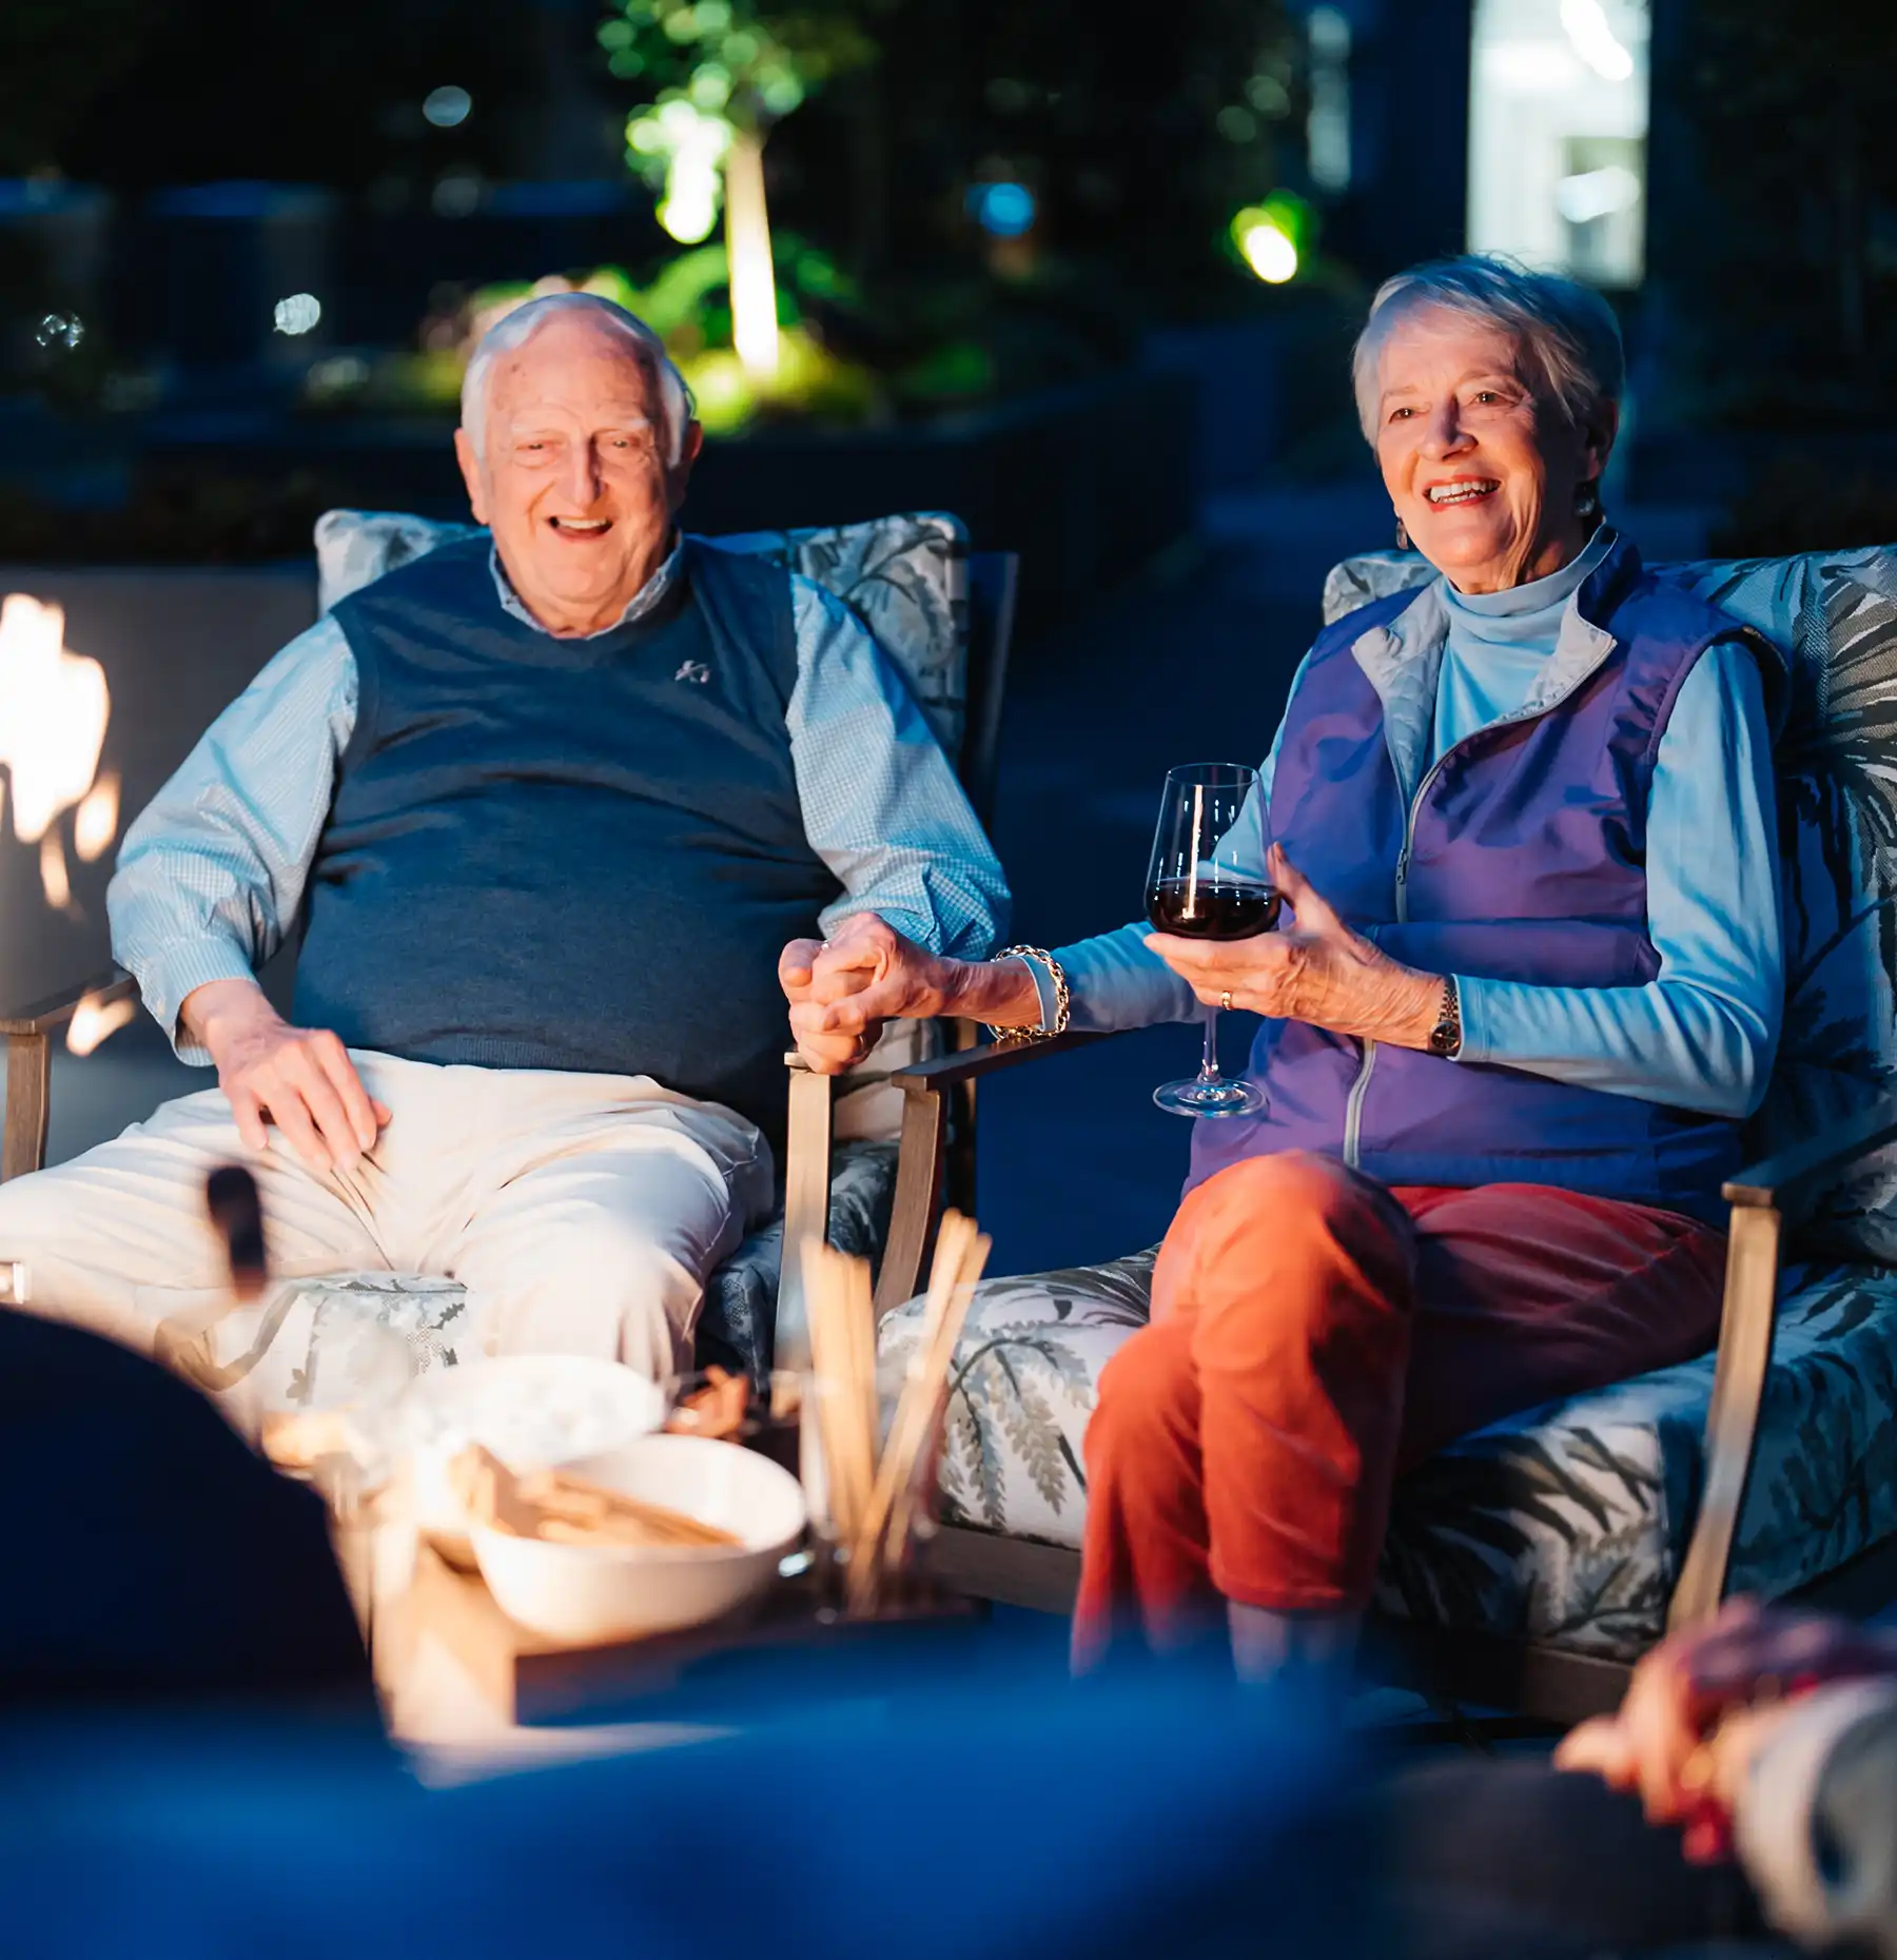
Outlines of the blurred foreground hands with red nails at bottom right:
[[1656,1646],[1634,1668],[1621,1711],[1581,1723],[1554,1764],[1638,1793],[1648,1823],[1683,1825],[1681,1850],[1703,1864],[1725,1856],[1752,1764],[1797,1705],[1787,1695],[1889,1674],[1889,1635],[1732,1599]]

